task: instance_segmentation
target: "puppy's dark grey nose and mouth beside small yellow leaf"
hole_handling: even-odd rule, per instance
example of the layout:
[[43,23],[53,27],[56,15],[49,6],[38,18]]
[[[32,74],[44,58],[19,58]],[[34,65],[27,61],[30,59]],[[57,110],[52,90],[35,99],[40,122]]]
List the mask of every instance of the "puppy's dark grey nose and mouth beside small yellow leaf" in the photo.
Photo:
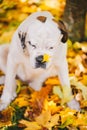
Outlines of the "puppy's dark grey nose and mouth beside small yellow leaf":
[[46,61],[43,62],[43,55],[39,55],[38,57],[36,57],[36,68],[46,68]]

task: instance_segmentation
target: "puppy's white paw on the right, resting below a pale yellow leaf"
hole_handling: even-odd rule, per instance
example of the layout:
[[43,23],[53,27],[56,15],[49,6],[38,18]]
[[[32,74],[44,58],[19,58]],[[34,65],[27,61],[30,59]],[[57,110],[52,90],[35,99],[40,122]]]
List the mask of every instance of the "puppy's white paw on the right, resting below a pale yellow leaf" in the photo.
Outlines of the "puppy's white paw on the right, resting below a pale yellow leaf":
[[71,109],[75,109],[77,111],[80,111],[80,104],[78,101],[76,101],[75,99],[72,99],[70,102],[67,103],[67,105],[71,108]]

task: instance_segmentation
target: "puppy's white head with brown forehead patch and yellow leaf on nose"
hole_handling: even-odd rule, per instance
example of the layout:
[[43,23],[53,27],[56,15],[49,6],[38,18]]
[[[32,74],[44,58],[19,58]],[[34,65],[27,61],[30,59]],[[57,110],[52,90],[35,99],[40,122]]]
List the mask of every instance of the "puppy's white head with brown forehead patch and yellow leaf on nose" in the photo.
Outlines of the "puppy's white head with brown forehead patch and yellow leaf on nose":
[[32,68],[49,68],[58,44],[64,44],[66,40],[67,32],[61,21],[57,24],[52,18],[37,16],[28,27],[25,43],[23,42],[23,48],[28,50]]

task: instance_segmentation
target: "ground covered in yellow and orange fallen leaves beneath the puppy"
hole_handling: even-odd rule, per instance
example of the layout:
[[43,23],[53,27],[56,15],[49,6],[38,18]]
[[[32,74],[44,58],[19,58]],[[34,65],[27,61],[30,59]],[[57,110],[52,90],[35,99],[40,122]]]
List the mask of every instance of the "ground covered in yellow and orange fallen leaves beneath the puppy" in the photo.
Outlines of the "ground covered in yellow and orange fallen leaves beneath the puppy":
[[61,89],[57,77],[47,79],[39,92],[17,80],[18,96],[0,112],[0,130],[87,130],[87,43],[68,40],[67,60],[72,93],[81,111],[67,107],[68,90]]

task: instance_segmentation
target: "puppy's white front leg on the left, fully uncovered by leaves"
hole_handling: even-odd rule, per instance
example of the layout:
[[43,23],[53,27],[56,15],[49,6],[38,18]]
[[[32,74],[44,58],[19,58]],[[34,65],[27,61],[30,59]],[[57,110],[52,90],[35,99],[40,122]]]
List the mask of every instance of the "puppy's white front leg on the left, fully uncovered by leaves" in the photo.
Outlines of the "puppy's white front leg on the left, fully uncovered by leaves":
[[0,110],[5,109],[10,104],[10,102],[16,97],[16,69],[17,65],[14,63],[12,55],[9,55],[7,61],[5,87],[0,101]]

